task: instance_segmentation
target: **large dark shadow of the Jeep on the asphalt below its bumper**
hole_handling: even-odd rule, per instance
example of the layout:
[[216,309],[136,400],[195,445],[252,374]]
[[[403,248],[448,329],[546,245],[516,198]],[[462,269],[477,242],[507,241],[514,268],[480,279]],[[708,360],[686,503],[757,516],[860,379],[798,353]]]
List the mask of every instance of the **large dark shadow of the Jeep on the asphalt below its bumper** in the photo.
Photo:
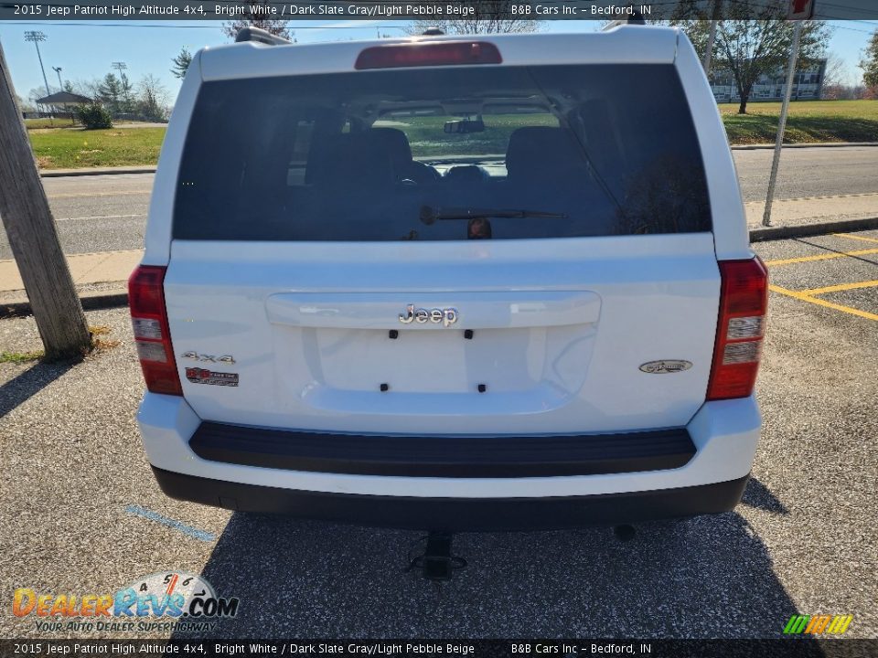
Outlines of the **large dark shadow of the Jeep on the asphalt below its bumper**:
[[203,575],[238,616],[198,635],[754,638],[796,612],[734,513],[638,525],[627,542],[611,528],[457,535],[468,566],[441,588],[404,572],[423,536],[235,513]]

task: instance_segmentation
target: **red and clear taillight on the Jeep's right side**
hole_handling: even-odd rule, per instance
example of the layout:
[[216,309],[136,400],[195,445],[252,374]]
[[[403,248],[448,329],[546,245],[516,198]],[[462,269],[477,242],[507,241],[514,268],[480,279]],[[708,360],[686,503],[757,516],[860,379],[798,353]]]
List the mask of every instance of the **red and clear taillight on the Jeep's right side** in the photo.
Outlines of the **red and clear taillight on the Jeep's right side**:
[[768,271],[759,257],[721,260],[720,318],[707,399],[746,398],[753,392],[766,330]]

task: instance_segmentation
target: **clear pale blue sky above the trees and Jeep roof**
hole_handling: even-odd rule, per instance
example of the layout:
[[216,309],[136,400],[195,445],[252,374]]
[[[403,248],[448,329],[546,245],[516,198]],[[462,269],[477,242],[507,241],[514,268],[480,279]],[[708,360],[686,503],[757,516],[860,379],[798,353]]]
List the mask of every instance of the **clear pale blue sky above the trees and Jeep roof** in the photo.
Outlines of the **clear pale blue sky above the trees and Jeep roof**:
[[[79,24],[79,25],[77,25]],[[2,45],[16,92],[27,99],[28,92],[43,87],[43,76],[33,43],[25,41],[27,30],[40,30],[46,40],[39,48],[52,90],[61,79],[93,80],[112,70],[112,63],[123,61],[128,77],[138,80],[146,73],[155,75],[169,92],[169,103],[177,97],[180,80],[170,72],[171,58],[180,48],[191,52],[204,46],[229,43],[221,31],[220,21],[132,21],[104,23],[97,21],[42,21],[33,23],[0,21]],[[402,35],[404,21],[348,20],[348,21],[291,21],[289,28],[299,43],[337,41],[342,39],[369,39],[378,34]],[[598,21],[546,21],[549,32],[592,32],[600,27]],[[844,62],[843,78],[847,82],[862,81],[862,70],[857,67],[861,52],[878,21],[830,21],[833,34],[829,50]]]

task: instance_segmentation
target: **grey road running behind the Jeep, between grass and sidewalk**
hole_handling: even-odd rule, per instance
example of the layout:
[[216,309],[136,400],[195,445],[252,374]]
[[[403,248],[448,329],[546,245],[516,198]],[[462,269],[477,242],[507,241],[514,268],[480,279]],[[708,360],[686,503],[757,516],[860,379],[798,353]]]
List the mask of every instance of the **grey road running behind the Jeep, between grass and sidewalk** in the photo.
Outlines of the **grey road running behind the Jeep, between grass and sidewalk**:
[[[744,201],[766,197],[772,151],[734,151]],[[152,174],[44,178],[66,253],[143,247]],[[776,198],[878,193],[878,147],[789,149]],[[0,230],[0,259],[11,258]]]

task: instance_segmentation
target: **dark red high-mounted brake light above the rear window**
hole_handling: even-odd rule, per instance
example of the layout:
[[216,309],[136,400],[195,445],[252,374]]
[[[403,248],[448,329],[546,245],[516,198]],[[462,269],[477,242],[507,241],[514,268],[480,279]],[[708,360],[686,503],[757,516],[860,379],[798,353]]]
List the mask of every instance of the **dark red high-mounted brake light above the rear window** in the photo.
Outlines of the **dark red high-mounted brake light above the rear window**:
[[412,66],[447,66],[454,64],[502,64],[500,51],[485,41],[447,41],[441,43],[407,43],[366,48],[354,68],[398,69]]

